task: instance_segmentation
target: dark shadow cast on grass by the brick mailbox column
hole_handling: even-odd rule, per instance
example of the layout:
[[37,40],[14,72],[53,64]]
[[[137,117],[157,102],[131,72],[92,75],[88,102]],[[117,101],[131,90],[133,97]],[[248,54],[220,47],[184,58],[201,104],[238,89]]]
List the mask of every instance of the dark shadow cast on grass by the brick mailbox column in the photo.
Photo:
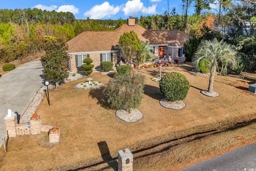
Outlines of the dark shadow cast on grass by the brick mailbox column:
[[98,147],[103,161],[107,162],[107,164],[114,170],[118,170],[118,162],[115,160],[115,158],[111,157],[106,141],[98,142]]

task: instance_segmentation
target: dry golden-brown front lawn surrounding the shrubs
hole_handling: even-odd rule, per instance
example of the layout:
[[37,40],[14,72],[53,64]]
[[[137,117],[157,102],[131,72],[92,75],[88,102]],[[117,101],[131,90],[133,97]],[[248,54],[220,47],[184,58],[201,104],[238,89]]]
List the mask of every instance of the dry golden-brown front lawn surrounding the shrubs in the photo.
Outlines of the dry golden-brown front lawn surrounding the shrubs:
[[[47,105],[45,98],[37,113],[44,124],[59,127],[61,142],[49,144],[47,133],[11,138],[8,152],[4,154],[1,149],[0,170],[66,169],[69,165],[95,163],[102,161],[102,143],[99,142],[106,141],[111,156],[116,157],[117,151],[125,147],[138,150],[181,134],[201,131],[196,128],[207,124],[221,125],[220,122],[225,124],[236,119],[243,121],[256,117],[256,96],[237,86],[240,82],[250,83],[250,80],[217,75],[214,90],[220,96],[209,98],[200,93],[208,86],[207,76],[188,72],[191,69],[186,64],[163,68],[163,73],[181,72],[190,82],[191,87],[184,100],[186,107],[182,110],[159,105],[161,95],[158,83],[150,80],[158,74],[159,69],[140,71],[146,75],[145,95],[138,107],[143,118],[132,124],[116,119],[115,110],[109,109],[104,101],[102,89],[90,91],[73,88],[86,78],[51,91],[51,106]],[[110,79],[100,73],[93,73],[91,77],[105,84]]]

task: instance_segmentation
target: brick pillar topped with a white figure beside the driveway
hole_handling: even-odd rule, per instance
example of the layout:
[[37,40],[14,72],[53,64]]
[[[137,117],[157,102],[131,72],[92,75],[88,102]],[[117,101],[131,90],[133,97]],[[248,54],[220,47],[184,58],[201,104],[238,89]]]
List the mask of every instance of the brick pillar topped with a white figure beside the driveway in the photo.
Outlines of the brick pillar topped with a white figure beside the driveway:
[[8,109],[8,114],[4,117],[5,130],[9,138],[17,136],[16,125],[17,114],[13,113],[11,109]]

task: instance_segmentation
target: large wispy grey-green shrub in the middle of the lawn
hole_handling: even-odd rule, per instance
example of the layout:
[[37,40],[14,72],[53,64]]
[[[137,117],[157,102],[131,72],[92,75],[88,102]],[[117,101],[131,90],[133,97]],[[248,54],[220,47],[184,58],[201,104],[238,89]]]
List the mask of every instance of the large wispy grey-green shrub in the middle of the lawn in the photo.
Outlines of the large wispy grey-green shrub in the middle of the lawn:
[[144,84],[142,74],[116,75],[105,87],[103,95],[111,108],[131,111],[141,103]]

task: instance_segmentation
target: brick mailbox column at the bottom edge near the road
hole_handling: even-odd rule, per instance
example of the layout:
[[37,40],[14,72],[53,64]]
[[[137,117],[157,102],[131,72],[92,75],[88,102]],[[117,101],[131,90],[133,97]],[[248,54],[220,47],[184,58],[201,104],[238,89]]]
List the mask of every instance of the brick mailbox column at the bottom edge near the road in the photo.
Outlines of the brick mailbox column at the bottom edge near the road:
[[118,171],[133,170],[133,155],[129,149],[118,151]]

